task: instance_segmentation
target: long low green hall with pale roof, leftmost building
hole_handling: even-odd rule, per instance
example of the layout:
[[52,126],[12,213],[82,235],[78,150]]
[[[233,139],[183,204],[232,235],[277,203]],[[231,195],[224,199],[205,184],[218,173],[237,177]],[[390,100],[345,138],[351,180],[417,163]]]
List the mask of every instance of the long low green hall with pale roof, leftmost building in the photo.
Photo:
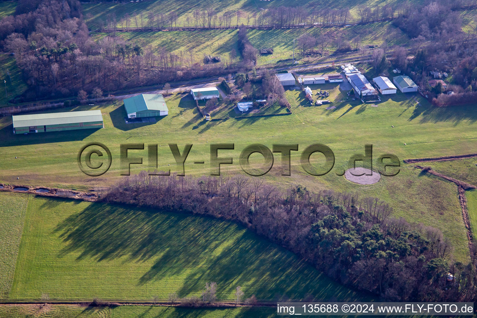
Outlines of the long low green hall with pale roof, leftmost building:
[[104,128],[100,110],[13,116],[13,133],[46,133]]

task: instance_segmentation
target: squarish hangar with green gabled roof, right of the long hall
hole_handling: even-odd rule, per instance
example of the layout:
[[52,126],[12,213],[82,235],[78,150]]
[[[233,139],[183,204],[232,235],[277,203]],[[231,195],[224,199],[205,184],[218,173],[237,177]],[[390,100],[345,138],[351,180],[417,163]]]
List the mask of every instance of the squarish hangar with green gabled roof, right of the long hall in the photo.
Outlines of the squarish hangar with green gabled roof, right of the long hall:
[[166,116],[169,114],[162,94],[140,94],[124,100],[127,118]]

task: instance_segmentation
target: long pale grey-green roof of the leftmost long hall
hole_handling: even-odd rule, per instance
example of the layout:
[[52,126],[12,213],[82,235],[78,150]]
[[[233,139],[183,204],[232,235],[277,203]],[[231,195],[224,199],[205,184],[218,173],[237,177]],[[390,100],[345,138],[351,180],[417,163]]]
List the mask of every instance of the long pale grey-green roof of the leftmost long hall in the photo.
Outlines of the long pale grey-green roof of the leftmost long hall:
[[66,123],[102,122],[100,110],[64,113],[42,113],[31,115],[13,115],[13,128]]

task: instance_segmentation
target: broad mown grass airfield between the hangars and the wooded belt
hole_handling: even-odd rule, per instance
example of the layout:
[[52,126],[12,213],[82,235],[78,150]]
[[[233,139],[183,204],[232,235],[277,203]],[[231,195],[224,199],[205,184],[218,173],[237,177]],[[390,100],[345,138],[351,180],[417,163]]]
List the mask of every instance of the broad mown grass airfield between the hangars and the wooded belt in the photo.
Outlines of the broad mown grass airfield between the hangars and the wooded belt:
[[[371,107],[357,101],[346,101],[346,91],[341,91],[337,86],[331,92],[333,105],[337,107],[334,110],[327,111],[323,106],[307,106],[302,92],[289,90],[286,95],[293,114],[208,123],[197,112],[190,95],[186,94],[167,97],[169,115],[157,123],[124,123],[122,103],[81,106],[73,110],[101,109],[105,128],[74,134],[13,135],[11,118],[4,117],[0,119],[0,146],[3,153],[0,165],[5,167],[1,181],[79,190],[111,185],[124,173],[119,161],[119,145],[124,143],[159,144],[158,170],[170,168],[172,173],[181,170],[174,164],[167,144],[177,143],[181,150],[183,144],[193,144],[185,164],[186,175],[210,173],[209,143],[235,143],[235,150],[221,152],[235,159],[233,165],[222,165],[221,171],[224,174],[243,174],[237,160],[245,146],[260,143],[271,148],[272,144],[299,143],[300,151],[292,152],[291,155],[292,175],[280,175],[280,158],[276,157],[274,167],[265,176],[268,182],[283,187],[301,184],[312,191],[326,188],[378,197],[394,208],[396,216],[403,216],[410,222],[439,227],[451,239],[454,256],[467,259],[467,239],[455,185],[422,175],[407,165],[403,165],[398,175],[383,177],[377,184],[370,186],[350,183],[334,172],[342,170],[351,155],[363,153],[364,144],[373,144],[374,158],[384,153],[395,154],[401,160],[470,153],[476,145],[474,136],[477,125],[473,107],[458,107],[458,112],[456,108],[432,108],[424,99],[402,93],[385,97],[378,107]],[[344,102],[338,102],[340,100]],[[247,138],[241,137],[244,135]],[[78,168],[78,151],[89,142],[101,142],[111,149],[112,166],[102,176],[89,177]],[[336,162],[330,174],[315,177],[305,174],[300,167],[301,150],[314,143],[332,148]],[[147,161],[147,150],[133,150],[130,154],[144,157],[142,165],[131,165],[132,174],[154,170],[155,167]],[[18,158],[15,159],[15,156]],[[250,158],[253,162],[254,156]],[[319,157],[312,156],[311,159],[313,163],[320,162]],[[198,160],[205,160],[205,164],[192,164]],[[38,169],[39,166],[41,169]],[[20,177],[19,181],[17,177]],[[449,219],[453,222],[449,223]]]

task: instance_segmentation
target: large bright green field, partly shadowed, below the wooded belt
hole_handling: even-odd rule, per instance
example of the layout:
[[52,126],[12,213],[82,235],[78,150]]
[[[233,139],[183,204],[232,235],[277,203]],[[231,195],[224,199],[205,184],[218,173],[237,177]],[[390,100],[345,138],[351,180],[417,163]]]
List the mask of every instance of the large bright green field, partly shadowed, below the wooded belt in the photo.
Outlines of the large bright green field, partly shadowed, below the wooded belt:
[[[245,228],[218,219],[91,202],[29,201],[12,299],[365,299]],[[335,297],[335,298],[334,298]]]

